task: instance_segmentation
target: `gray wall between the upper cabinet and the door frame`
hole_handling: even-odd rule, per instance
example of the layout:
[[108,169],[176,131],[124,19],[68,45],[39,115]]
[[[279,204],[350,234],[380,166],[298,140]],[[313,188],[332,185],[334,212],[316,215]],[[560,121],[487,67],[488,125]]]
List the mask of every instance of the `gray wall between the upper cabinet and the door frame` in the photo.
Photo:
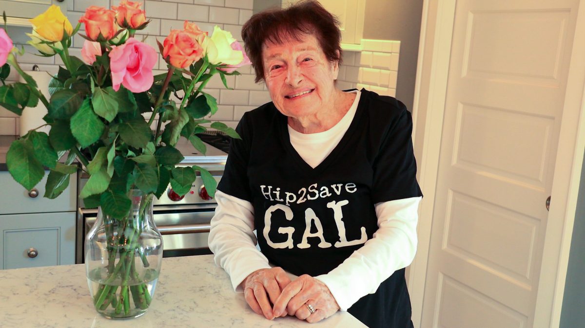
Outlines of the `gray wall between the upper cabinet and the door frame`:
[[366,0],[363,38],[401,41],[396,98],[411,111],[421,17],[422,0]]

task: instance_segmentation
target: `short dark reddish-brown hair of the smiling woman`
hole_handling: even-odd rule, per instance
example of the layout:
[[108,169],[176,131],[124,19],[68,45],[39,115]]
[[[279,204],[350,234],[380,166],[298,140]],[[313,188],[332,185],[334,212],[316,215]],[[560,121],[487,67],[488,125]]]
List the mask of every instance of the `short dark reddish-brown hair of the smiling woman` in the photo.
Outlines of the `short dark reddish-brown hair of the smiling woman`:
[[242,27],[242,39],[256,71],[256,82],[264,79],[262,46],[266,41],[276,44],[283,44],[289,38],[301,41],[307,34],[314,34],[327,60],[341,64],[339,20],[316,0],[253,15]]

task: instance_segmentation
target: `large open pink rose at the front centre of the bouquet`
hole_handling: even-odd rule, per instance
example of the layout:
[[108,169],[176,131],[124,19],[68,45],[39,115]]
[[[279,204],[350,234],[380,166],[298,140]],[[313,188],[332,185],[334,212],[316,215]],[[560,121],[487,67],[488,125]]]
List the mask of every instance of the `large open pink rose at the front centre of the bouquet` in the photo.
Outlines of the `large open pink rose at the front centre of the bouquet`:
[[150,89],[154,81],[152,69],[157,62],[156,50],[133,37],[109,53],[112,86],[118,91],[120,84],[132,92]]

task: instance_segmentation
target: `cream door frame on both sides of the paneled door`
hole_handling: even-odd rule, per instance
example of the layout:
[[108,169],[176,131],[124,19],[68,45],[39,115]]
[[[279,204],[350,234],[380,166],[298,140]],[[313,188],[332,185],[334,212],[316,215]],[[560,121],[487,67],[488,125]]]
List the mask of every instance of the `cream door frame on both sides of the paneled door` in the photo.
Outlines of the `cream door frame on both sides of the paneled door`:
[[[431,242],[432,215],[439,169],[445,99],[455,22],[456,0],[424,0],[418,69],[412,108],[412,140],[418,159],[418,180],[424,194],[419,208],[417,256],[408,268],[412,322],[420,327]],[[577,9],[577,25],[569,64],[561,121],[555,180],[546,235],[560,235],[560,245],[545,238],[534,327],[559,327],[577,196],[585,149],[585,0]],[[449,46],[445,46],[448,44]],[[571,108],[567,103],[580,103]],[[562,162],[559,158],[572,158]],[[566,183],[568,182],[568,183]],[[565,201],[563,201],[565,200]],[[543,204],[544,206],[544,204]],[[556,268],[555,272],[550,268]],[[544,273],[544,276],[542,275]],[[544,288],[553,286],[553,288]]]

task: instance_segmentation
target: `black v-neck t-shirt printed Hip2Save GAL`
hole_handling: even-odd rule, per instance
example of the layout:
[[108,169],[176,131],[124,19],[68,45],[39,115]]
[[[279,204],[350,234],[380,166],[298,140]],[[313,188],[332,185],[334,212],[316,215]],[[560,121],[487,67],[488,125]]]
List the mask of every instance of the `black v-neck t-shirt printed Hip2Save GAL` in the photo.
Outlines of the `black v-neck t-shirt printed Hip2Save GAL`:
[[[252,203],[261,252],[292,274],[326,274],[362,247],[378,229],[374,204],[422,196],[411,114],[393,97],[362,89],[345,135],[315,168],[273,103],[244,114],[236,131],[218,189]],[[369,327],[411,327],[404,268],[348,312]]]

